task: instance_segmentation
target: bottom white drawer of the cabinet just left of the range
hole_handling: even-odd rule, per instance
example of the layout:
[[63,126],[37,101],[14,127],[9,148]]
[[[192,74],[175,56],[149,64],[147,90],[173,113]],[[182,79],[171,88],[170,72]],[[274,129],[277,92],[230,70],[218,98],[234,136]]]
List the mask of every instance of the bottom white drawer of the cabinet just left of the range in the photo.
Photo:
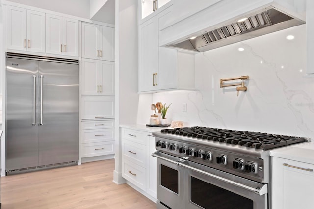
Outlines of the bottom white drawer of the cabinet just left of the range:
[[122,177],[145,191],[146,189],[145,168],[142,168],[128,160],[124,160],[122,164]]

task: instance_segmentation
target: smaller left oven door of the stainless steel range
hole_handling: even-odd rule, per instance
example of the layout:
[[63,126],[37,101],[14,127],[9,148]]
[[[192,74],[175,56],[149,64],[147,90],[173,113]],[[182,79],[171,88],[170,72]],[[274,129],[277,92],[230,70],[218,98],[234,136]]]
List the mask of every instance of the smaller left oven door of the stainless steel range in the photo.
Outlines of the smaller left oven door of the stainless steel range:
[[178,166],[182,159],[160,152],[153,156],[157,157],[157,208],[183,209],[184,169]]

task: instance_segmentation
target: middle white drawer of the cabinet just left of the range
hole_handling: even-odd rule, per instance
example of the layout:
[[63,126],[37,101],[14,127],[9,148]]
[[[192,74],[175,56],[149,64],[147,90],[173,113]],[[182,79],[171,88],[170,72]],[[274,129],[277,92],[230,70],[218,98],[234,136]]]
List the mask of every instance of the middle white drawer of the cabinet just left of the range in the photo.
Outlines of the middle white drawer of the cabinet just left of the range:
[[137,143],[123,142],[122,153],[123,157],[143,168],[146,167],[146,146]]

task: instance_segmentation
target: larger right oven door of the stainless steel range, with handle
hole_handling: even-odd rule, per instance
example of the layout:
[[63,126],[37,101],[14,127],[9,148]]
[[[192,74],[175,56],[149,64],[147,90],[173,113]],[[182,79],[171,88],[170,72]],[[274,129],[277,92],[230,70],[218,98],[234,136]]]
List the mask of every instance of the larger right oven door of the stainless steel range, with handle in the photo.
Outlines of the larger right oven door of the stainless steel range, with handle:
[[267,209],[267,184],[184,161],[185,209]]

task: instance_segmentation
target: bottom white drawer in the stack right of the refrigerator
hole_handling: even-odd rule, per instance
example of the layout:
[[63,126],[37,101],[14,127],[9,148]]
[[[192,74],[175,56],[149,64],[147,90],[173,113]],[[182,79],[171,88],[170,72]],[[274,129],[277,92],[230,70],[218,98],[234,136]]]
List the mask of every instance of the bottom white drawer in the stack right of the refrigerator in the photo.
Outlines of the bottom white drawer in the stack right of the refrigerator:
[[114,141],[82,144],[82,157],[114,154]]

